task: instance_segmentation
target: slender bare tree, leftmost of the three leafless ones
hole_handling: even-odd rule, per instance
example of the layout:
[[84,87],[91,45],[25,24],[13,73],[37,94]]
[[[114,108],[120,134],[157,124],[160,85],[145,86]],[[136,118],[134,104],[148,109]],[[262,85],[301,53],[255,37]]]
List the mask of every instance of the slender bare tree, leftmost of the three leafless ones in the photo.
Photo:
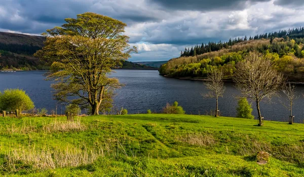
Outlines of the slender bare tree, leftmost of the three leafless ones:
[[204,82],[209,92],[201,94],[204,97],[216,98],[215,117],[218,117],[218,97],[222,97],[225,91],[224,82],[222,80],[223,77],[224,74],[222,70],[217,68],[210,69],[207,75],[207,81]]

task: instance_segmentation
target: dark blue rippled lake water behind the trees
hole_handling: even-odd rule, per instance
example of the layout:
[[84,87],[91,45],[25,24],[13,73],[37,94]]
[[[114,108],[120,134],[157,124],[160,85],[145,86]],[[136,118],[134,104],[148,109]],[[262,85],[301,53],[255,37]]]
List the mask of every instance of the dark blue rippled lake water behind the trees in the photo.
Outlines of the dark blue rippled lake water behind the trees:
[[[45,81],[42,71],[20,71],[15,73],[0,72],[0,90],[6,88],[19,88],[33,100],[36,108],[55,110],[56,100],[53,100],[51,81]],[[115,70],[110,77],[116,77],[125,86],[116,90],[114,98],[114,109],[127,109],[129,114],[146,113],[148,109],[152,112],[161,112],[167,102],[178,101],[186,114],[206,114],[214,110],[214,98],[204,98],[201,93],[207,90],[201,81],[190,81],[160,76],[157,70]],[[237,96],[240,92],[233,83],[225,83],[225,93],[219,98],[219,110],[221,116],[236,116]],[[303,85],[297,86],[297,94],[304,91]],[[265,120],[288,121],[289,110],[283,105],[287,98],[275,97],[272,103],[261,102],[261,114]],[[281,100],[281,101],[280,101]],[[304,99],[301,95],[294,101],[293,115],[295,122],[303,123]],[[252,103],[253,115],[257,117],[255,104]],[[64,113],[64,106],[58,104],[58,114]]]

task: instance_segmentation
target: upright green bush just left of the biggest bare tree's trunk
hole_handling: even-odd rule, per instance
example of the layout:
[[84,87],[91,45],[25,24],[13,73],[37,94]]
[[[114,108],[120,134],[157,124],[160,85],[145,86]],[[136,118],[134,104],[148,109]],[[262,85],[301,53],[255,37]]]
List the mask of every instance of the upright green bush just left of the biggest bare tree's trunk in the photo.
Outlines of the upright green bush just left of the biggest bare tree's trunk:
[[248,103],[247,98],[239,99],[237,112],[237,117],[239,118],[254,119],[254,116],[251,114],[251,104]]

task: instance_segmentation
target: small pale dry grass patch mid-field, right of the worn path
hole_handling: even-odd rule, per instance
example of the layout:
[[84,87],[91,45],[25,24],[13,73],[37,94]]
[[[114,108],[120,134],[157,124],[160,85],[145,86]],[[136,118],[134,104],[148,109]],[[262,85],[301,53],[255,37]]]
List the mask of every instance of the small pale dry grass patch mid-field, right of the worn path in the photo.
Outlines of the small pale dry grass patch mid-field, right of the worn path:
[[212,146],[216,143],[213,135],[210,133],[187,134],[186,136],[178,137],[178,140],[199,147]]

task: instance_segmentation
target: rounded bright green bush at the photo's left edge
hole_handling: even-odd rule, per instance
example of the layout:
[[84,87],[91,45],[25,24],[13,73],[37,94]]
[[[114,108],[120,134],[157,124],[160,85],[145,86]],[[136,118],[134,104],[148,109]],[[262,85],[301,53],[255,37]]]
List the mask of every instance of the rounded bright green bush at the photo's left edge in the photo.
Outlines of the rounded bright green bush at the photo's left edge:
[[0,109],[14,112],[19,110],[27,111],[34,108],[34,103],[25,91],[20,89],[7,89],[0,92]]

